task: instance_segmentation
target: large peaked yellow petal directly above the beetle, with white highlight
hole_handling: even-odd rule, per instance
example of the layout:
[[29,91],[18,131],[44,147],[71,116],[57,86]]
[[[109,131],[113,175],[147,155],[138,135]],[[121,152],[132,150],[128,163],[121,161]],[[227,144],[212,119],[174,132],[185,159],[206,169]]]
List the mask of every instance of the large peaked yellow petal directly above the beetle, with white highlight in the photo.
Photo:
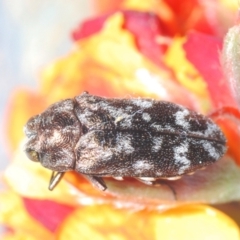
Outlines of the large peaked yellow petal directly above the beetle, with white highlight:
[[176,83],[170,71],[139,52],[134,36],[122,28],[123,20],[121,13],[113,14],[101,31],[78,41],[72,53],[49,66],[41,82],[44,98],[54,102],[89,91],[108,97],[144,96],[196,106],[194,96]]

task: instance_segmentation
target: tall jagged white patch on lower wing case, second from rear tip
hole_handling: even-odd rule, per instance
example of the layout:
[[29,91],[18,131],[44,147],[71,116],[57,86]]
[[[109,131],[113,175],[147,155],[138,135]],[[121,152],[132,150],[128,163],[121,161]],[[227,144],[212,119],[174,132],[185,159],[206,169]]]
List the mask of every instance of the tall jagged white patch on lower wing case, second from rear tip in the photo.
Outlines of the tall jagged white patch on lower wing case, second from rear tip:
[[176,164],[180,164],[178,174],[183,174],[190,167],[191,161],[186,157],[188,152],[188,142],[183,142],[180,146],[174,148],[174,160]]

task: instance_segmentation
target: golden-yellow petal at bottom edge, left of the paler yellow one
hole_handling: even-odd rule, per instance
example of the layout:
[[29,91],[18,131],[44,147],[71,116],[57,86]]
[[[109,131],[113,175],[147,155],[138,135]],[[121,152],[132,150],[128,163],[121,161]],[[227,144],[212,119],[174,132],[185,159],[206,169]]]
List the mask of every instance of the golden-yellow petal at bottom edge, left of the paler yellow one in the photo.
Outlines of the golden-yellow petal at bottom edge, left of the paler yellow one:
[[144,223],[146,217],[143,218],[141,213],[135,215],[109,205],[83,207],[66,219],[57,233],[57,239],[151,239],[149,237],[152,236],[153,231],[152,227],[148,229]]

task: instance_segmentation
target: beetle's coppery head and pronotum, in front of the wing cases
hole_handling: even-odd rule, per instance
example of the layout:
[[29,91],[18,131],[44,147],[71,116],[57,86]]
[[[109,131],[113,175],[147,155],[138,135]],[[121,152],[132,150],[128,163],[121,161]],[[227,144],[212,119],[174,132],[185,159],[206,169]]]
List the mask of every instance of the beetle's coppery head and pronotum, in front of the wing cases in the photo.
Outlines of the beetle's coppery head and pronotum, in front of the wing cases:
[[32,161],[58,172],[74,169],[74,147],[81,130],[72,100],[55,103],[42,114],[32,117],[24,132],[28,138],[25,152]]

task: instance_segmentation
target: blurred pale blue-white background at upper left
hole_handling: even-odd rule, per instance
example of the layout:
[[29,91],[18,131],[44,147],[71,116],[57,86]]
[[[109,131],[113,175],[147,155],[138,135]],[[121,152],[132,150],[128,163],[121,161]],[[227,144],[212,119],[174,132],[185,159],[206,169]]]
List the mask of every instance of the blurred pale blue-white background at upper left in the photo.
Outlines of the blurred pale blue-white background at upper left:
[[87,0],[0,0],[0,171],[10,159],[4,122],[11,94],[37,86],[42,69],[69,52],[71,31],[91,9]]

